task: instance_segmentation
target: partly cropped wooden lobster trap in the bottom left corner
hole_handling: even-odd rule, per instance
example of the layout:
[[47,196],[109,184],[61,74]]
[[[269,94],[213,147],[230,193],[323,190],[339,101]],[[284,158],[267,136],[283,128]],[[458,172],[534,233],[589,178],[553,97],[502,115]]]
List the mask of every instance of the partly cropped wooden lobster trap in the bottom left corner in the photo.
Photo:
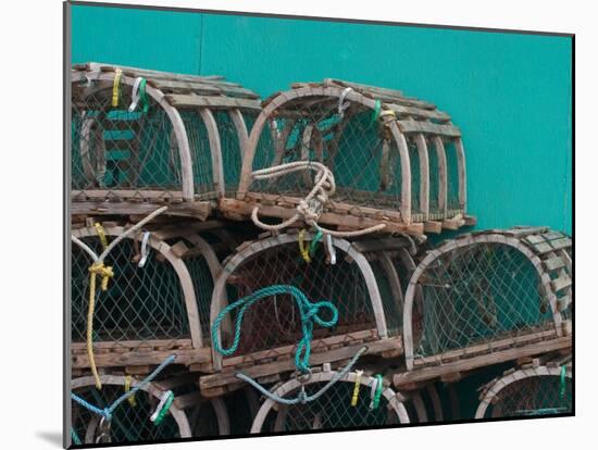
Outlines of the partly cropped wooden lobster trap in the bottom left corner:
[[[223,399],[203,399],[198,392],[197,377],[171,374],[144,384],[125,375],[100,376],[101,389],[91,376],[74,378],[72,392],[86,402],[105,409],[124,393],[139,388],[112,411],[110,427],[102,429],[102,416],[79,402],[72,401],[72,440],[80,443],[155,442],[190,437],[226,436],[229,434],[228,412]],[[161,401],[172,392],[172,403],[162,421],[151,420]],[[164,404],[164,403],[162,403]]]

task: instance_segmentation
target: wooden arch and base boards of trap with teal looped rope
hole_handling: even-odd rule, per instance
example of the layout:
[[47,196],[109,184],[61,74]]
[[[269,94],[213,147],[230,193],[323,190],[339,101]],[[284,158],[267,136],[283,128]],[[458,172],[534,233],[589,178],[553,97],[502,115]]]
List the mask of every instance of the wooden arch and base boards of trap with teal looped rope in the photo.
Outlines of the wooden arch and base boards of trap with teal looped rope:
[[[304,235],[306,245],[309,245],[312,238],[313,235],[307,233]],[[247,242],[238,249],[236,254],[228,258],[214,285],[210,314],[211,324],[214,323],[220,312],[228,304],[228,301],[233,300],[227,298],[226,286],[231,280],[236,280],[235,277],[238,277],[237,271],[242,270],[246,261],[251,261],[251,258],[256,255],[267,257],[269,251],[279,252],[284,249],[284,246],[297,246],[297,241],[298,236],[296,234],[273,236],[253,242]],[[372,323],[372,327],[364,328],[364,325],[356,324],[356,326],[359,325],[359,328],[353,330],[351,329],[351,325],[347,324],[344,328],[337,328],[329,333],[323,329],[322,332],[325,334],[320,337],[317,335],[320,332],[316,327],[312,341],[312,362],[314,364],[321,364],[324,362],[350,359],[359,348],[362,347],[363,342],[366,342],[367,346],[366,354],[382,354],[386,357],[400,354],[402,349],[400,336],[398,336],[398,332],[396,332],[395,335],[388,333],[385,308],[379,295],[376,278],[366,258],[357,250],[354,243],[350,243],[345,239],[333,238],[332,242],[336,248],[337,261],[346,259],[350,264],[354,264],[356,274],[359,273],[359,276],[362,278],[361,280],[369,295],[367,301],[371,308],[369,320]],[[320,243],[320,246],[324,245],[324,242]],[[308,263],[306,263],[299,254],[298,247],[294,247],[290,251],[297,257],[296,264],[309,270]],[[323,253],[324,249],[320,249],[319,251]],[[315,258],[323,258],[323,255],[316,253]],[[314,264],[314,262],[311,264]],[[306,278],[309,278],[309,276],[306,275]],[[290,282],[287,282],[287,284],[289,283]],[[266,286],[257,286],[256,289],[252,290],[263,287]],[[301,289],[300,285],[298,287]],[[316,299],[311,300],[316,301]],[[263,318],[262,316],[260,317]],[[248,326],[248,317],[245,318],[244,327]],[[222,327],[217,333],[221,342],[223,336],[231,336],[232,324],[229,317],[227,321],[223,321]],[[241,343],[244,339],[242,335],[241,332]],[[222,372],[220,374],[201,377],[200,386],[202,393],[211,397],[221,395],[223,392],[222,389],[226,391],[227,389],[233,390],[242,386],[242,383],[235,378],[235,373],[238,371],[237,367],[242,367],[244,373],[249,376],[257,376],[258,379],[262,379],[263,383],[265,383],[265,380],[271,380],[272,376],[278,376],[278,374],[283,372],[294,371],[295,362],[292,355],[296,343],[297,339],[294,340],[292,343],[276,345],[271,342],[270,346],[264,346],[259,349],[256,348],[245,353],[239,352],[239,354],[227,358],[223,358],[213,350],[213,368],[216,372]]]

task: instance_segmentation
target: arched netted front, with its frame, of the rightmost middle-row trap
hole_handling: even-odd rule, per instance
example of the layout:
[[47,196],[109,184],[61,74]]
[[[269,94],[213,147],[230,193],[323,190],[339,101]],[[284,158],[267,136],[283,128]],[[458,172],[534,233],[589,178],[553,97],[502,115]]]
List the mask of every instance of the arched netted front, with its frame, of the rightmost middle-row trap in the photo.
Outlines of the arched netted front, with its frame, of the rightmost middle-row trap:
[[[540,252],[528,243],[546,236],[557,248],[547,243]],[[571,279],[556,282],[547,264],[553,251],[570,246],[546,228],[513,228],[461,236],[428,252],[406,296],[408,368],[566,333],[561,311],[570,303],[563,309],[557,295]],[[421,317],[414,308],[419,295]]]

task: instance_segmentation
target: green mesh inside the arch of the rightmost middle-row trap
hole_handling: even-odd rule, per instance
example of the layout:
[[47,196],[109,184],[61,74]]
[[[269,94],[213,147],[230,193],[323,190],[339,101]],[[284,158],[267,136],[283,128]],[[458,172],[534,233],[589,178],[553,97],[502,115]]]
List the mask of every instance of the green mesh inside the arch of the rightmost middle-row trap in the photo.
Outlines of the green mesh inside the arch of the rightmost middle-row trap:
[[538,273],[520,250],[475,243],[440,254],[419,278],[421,357],[555,327]]

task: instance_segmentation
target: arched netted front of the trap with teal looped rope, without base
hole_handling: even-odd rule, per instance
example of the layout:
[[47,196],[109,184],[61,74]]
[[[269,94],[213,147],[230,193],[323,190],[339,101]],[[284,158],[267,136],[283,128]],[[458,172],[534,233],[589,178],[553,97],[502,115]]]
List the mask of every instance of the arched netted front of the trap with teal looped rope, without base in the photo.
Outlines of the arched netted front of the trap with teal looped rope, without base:
[[[212,326],[227,303],[263,288],[292,286],[309,301],[329,301],[338,310],[334,326],[314,326],[314,339],[346,335],[346,339],[335,339],[335,345],[342,345],[356,339],[387,337],[379,291],[363,254],[344,239],[332,238],[328,246],[326,239],[313,241],[313,238],[301,233],[257,240],[225,261],[212,297]],[[306,248],[309,262],[299,242]],[[289,292],[262,298],[248,308],[242,321],[237,323],[239,311],[232,310],[215,330],[221,346],[229,348],[233,326],[239,327],[240,339],[234,357],[260,352],[263,358],[273,358],[279,355],[277,348],[294,346],[302,337],[301,312]],[[324,321],[331,320],[329,311],[322,310],[319,314]],[[214,358],[217,362],[222,355],[216,352]]]

